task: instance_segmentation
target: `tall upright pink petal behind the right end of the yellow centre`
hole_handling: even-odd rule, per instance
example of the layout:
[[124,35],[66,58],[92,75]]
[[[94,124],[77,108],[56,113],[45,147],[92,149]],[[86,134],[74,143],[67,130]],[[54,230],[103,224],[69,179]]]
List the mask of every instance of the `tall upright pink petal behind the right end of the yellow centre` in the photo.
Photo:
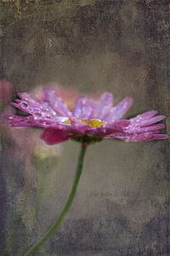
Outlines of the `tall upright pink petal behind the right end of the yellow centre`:
[[103,93],[96,104],[93,118],[105,120],[105,117],[108,116],[112,105],[113,105],[113,95],[110,92]]

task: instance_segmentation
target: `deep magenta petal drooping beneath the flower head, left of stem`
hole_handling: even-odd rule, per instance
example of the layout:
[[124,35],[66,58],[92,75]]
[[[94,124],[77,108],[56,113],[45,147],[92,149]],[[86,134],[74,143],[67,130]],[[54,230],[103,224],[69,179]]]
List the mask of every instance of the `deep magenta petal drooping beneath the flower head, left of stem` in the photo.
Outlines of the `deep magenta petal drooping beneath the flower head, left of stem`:
[[47,128],[42,132],[41,138],[48,143],[48,145],[54,145],[68,140],[69,136],[65,135],[63,130]]

